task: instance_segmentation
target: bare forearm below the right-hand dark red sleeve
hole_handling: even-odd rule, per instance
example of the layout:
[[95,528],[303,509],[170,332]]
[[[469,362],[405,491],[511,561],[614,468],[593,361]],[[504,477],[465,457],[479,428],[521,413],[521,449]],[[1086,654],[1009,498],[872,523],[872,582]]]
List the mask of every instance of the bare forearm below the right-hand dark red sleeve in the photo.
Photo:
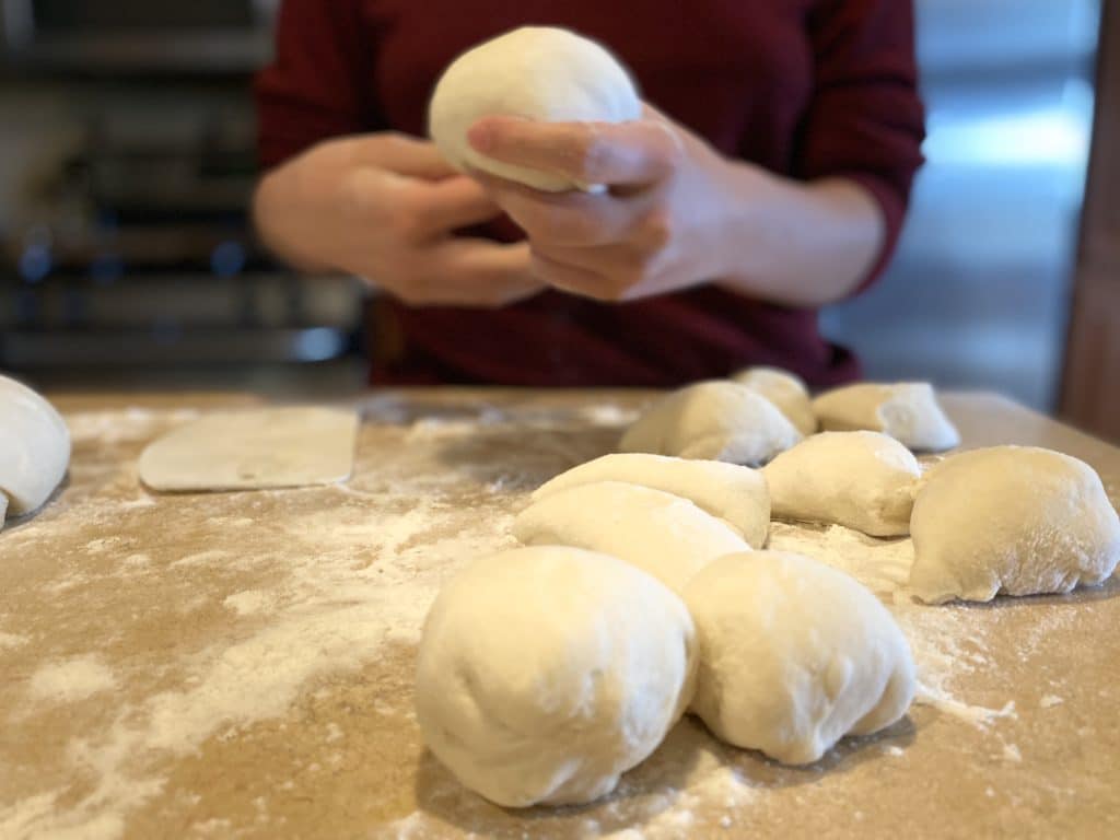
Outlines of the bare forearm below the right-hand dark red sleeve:
[[724,181],[729,212],[717,245],[724,288],[818,307],[850,293],[886,235],[875,198],[846,178],[801,183],[747,164]]

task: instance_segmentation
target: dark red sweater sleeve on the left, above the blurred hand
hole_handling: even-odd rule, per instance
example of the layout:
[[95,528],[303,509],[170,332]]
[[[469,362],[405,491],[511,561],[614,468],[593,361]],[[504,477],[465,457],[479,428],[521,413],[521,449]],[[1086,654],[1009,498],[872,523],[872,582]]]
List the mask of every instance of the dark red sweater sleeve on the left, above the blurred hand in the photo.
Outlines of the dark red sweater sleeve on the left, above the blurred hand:
[[262,167],[320,140],[380,128],[374,49],[360,15],[357,0],[284,0],[274,57],[254,84]]

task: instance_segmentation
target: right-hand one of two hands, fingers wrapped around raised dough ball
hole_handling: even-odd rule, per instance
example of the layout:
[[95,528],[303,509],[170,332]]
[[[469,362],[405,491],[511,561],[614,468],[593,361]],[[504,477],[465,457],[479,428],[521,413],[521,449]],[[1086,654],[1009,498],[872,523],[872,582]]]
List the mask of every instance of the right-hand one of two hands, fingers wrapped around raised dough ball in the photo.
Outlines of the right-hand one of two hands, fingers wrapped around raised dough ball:
[[497,160],[606,185],[603,194],[544,193],[472,172],[525,231],[532,271],[550,286],[634,300],[726,271],[729,161],[653,109],[617,124],[486,116],[468,138]]

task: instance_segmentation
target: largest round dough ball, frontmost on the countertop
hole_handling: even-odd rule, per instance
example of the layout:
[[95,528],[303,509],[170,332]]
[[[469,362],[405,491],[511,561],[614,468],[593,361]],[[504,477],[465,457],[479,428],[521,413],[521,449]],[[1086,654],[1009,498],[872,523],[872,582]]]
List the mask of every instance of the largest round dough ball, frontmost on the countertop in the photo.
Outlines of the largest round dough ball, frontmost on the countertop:
[[590,802],[657,747],[694,671],[688,610],[648,575],[576,549],[517,549],[440,591],[417,718],[432,753],[500,805]]

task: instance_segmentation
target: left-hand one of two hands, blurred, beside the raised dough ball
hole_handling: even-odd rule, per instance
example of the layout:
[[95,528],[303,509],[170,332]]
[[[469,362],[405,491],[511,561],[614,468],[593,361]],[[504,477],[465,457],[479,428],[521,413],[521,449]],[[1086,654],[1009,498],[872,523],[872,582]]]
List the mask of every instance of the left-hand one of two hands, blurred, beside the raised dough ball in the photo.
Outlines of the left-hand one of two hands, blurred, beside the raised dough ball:
[[543,288],[526,243],[451,235],[501,211],[432,143],[402,134],[309,149],[261,179],[253,209],[280,256],[356,274],[410,305],[497,307]]

